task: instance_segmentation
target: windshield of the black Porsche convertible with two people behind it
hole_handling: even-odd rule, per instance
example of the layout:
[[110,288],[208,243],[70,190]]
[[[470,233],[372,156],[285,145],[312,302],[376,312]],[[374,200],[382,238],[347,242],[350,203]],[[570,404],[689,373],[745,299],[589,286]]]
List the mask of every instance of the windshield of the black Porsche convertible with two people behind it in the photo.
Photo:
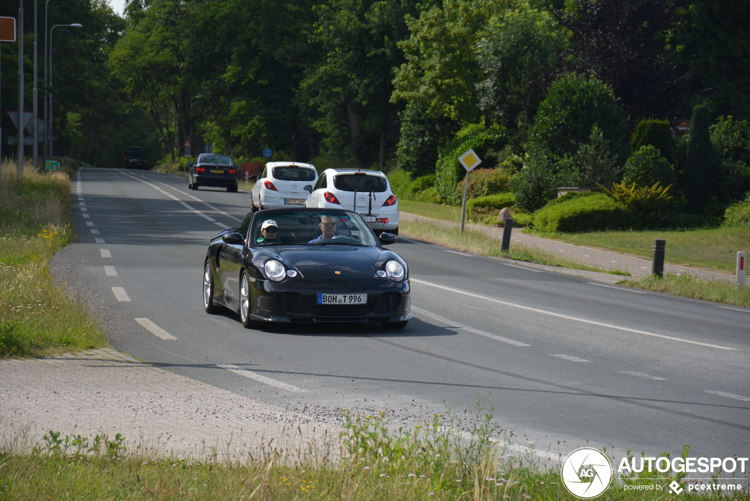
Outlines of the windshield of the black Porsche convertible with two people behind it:
[[358,213],[342,210],[269,211],[253,222],[251,246],[352,245],[377,247],[372,230]]

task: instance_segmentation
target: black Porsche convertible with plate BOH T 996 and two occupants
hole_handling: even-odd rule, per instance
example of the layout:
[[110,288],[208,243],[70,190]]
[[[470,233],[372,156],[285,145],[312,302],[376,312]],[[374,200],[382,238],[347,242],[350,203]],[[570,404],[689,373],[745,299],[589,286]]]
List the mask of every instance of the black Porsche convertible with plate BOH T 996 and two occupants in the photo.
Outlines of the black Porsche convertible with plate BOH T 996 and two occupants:
[[405,327],[407,263],[358,213],[269,209],[211,239],[203,264],[203,306],[238,312],[245,327],[265,322],[370,322]]

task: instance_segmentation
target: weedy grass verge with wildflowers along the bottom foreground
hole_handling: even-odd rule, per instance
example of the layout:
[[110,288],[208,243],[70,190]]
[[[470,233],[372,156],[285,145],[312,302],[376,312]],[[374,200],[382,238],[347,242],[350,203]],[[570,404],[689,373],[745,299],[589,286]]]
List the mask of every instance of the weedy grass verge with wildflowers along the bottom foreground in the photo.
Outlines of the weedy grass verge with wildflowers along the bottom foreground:
[[[0,499],[577,499],[562,487],[559,463],[549,459],[561,454],[542,459],[533,448],[508,454],[512,432],[492,424],[491,412],[449,409],[447,418],[435,415],[397,430],[383,415],[345,411],[344,431],[329,443],[338,448],[299,454],[269,442],[234,460],[148,457],[125,451],[120,435],[89,443],[49,430],[46,445],[26,454],[0,453]],[[638,475],[615,475],[598,499],[665,499],[671,481],[683,488],[688,483],[684,473]],[[633,484],[661,489],[624,488]],[[745,491],[724,491],[721,499],[750,498]]]

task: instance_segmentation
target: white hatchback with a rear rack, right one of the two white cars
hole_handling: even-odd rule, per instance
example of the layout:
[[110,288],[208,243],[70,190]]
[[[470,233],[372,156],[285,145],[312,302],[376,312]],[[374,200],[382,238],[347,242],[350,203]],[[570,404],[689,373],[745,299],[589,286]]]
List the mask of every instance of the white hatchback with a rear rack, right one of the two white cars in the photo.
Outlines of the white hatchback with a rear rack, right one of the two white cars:
[[352,209],[375,233],[398,235],[398,198],[388,178],[367,169],[326,169],[320,174],[305,207]]

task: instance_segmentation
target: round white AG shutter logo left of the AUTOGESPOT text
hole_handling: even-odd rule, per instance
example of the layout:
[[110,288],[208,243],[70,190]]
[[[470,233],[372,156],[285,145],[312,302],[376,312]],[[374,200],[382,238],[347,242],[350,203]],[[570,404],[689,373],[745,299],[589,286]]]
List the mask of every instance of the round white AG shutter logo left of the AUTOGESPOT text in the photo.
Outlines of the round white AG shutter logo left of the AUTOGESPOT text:
[[609,487],[612,464],[603,452],[582,447],[565,457],[560,476],[569,493],[580,499],[592,499]]

